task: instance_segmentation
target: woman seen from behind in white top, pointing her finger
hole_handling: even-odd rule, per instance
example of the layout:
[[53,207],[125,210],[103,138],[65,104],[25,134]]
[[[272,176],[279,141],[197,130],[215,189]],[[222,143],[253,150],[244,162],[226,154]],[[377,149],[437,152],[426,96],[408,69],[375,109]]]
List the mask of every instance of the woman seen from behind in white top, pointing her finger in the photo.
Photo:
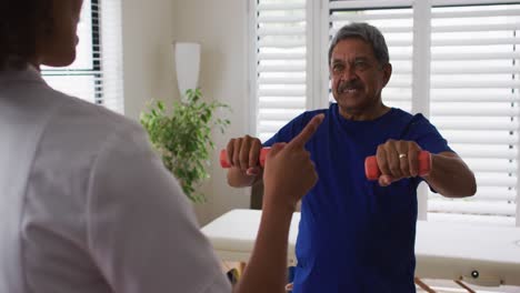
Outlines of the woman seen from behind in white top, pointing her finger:
[[[81,4],[2,1],[0,292],[230,292],[141,128],[42,80],[40,65],[73,62]],[[268,156],[262,223],[236,292],[283,291],[292,211],[317,181],[303,145],[321,119]]]

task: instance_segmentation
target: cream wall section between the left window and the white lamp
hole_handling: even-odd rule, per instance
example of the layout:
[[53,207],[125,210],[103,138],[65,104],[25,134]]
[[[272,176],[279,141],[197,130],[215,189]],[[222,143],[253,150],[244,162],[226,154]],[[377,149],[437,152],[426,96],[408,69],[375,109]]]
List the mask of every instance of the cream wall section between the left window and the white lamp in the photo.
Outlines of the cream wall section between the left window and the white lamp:
[[138,119],[150,99],[174,99],[173,0],[122,0],[124,113]]

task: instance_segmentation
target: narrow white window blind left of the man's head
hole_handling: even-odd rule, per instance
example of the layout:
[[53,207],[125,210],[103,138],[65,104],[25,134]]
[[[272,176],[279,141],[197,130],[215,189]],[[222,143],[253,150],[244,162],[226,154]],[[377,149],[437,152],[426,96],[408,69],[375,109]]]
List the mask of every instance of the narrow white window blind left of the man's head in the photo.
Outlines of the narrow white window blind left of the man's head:
[[307,1],[256,6],[257,135],[271,138],[307,105]]

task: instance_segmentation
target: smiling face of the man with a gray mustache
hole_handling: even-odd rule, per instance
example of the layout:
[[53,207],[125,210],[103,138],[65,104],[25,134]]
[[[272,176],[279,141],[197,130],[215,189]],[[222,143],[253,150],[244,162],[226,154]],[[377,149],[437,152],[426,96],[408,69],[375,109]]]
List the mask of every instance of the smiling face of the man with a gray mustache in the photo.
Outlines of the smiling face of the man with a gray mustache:
[[337,43],[330,60],[332,94],[342,114],[363,114],[380,104],[391,65],[381,65],[372,47],[359,38]]

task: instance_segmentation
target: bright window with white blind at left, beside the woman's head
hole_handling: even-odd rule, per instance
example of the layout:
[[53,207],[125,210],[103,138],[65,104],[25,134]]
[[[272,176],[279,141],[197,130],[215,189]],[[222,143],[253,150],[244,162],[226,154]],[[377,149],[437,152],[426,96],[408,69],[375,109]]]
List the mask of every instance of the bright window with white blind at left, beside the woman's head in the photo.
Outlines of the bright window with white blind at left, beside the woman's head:
[[122,112],[119,0],[84,0],[77,59],[67,68],[42,67],[43,79],[67,94]]

